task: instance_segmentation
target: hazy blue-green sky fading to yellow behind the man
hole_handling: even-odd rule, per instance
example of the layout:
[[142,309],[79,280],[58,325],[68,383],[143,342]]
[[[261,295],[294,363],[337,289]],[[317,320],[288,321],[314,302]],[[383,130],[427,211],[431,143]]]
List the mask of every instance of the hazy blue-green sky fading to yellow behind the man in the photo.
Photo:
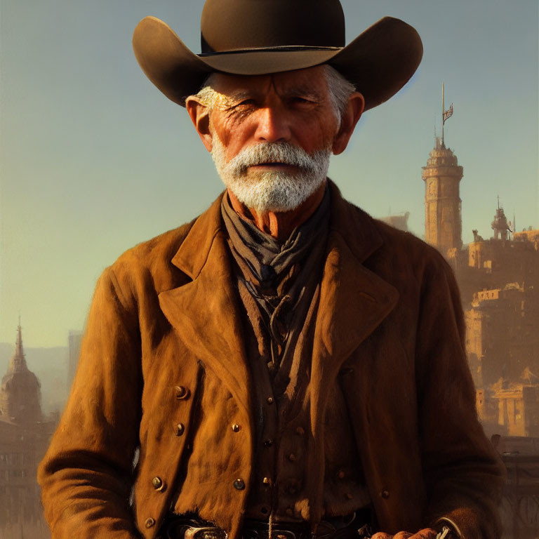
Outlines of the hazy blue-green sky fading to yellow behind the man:
[[[192,220],[222,191],[185,109],[131,48],[154,15],[198,53],[202,0],[0,0],[0,342],[67,345],[95,281],[126,249]],[[539,228],[538,1],[342,0],[347,43],[385,15],[422,37],[418,72],[366,112],[329,176],[375,217],[410,212],[424,236],[421,167],[446,145],[464,167],[463,241],[497,205]]]

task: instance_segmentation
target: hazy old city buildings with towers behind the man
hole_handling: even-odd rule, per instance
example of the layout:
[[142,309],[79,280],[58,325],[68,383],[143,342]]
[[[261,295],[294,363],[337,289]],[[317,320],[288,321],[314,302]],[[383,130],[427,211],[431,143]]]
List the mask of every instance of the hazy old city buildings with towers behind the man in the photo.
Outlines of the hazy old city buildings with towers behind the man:
[[[453,267],[465,314],[466,352],[477,390],[477,413],[507,467],[505,538],[539,533],[539,227],[518,230],[496,193],[492,222],[478,222],[463,244],[463,166],[444,137],[422,166],[425,241]],[[473,201],[467,201],[473,208]],[[473,210],[472,210],[473,211]],[[382,218],[407,231],[408,213]],[[15,322],[15,321],[14,321]],[[14,324],[15,325],[15,324]],[[440,328],[443,331],[443,328]],[[41,514],[36,468],[67,399],[81,332],[56,349],[54,373],[41,380],[26,360],[19,320],[0,386],[0,538],[50,538]],[[41,350],[35,349],[37,354]],[[4,363],[0,357],[0,366]]]

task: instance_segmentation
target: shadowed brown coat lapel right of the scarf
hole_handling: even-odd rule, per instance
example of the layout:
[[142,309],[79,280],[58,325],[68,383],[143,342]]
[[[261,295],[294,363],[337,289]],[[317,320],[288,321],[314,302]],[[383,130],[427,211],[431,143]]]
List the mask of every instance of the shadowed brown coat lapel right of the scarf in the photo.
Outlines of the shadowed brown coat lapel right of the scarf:
[[[342,362],[397,305],[399,293],[363,262],[382,246],[373,219],[331,182],[328,255],[314,331],[312,382],[333,380]],[[331,383],[313,388],[324,401]]]

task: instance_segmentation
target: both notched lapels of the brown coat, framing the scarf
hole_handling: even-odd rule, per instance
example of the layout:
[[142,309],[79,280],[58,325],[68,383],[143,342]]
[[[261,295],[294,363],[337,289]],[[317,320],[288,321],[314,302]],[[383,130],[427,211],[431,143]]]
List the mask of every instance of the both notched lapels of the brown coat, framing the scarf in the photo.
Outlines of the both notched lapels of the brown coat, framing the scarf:
[[[393,286],[362,265],[383,244],[374,220],[342,199],[331,181],[330,189],[328,254],[312,364],[313,378],[320,381],[336,375],[342,361],[387,317],[398,298]],[[248,410],[250,373],[241,338],[241,301],[221,222],[221,197],[194,222],[172,259],[192,282],[162,292],[159,302],[194,356],[212,368]],[[316,389],[322,404],[326,389]]]

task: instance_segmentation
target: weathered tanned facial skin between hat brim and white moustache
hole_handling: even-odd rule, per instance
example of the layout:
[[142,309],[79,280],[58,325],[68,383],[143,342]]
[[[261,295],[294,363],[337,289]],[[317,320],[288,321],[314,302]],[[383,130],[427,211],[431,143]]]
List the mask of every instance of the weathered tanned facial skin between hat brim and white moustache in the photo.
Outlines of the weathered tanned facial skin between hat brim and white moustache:
[[[223,97],[211,114],[215,134],[230,161],[242,149],[263,142],[289,142],[313,154],[331,147],[338,119],[324,69],[261,76],[215,74],[213,87]],[[274,164],[272,170],[289,170]],[[253,167],[268,170],[267,166]]]

